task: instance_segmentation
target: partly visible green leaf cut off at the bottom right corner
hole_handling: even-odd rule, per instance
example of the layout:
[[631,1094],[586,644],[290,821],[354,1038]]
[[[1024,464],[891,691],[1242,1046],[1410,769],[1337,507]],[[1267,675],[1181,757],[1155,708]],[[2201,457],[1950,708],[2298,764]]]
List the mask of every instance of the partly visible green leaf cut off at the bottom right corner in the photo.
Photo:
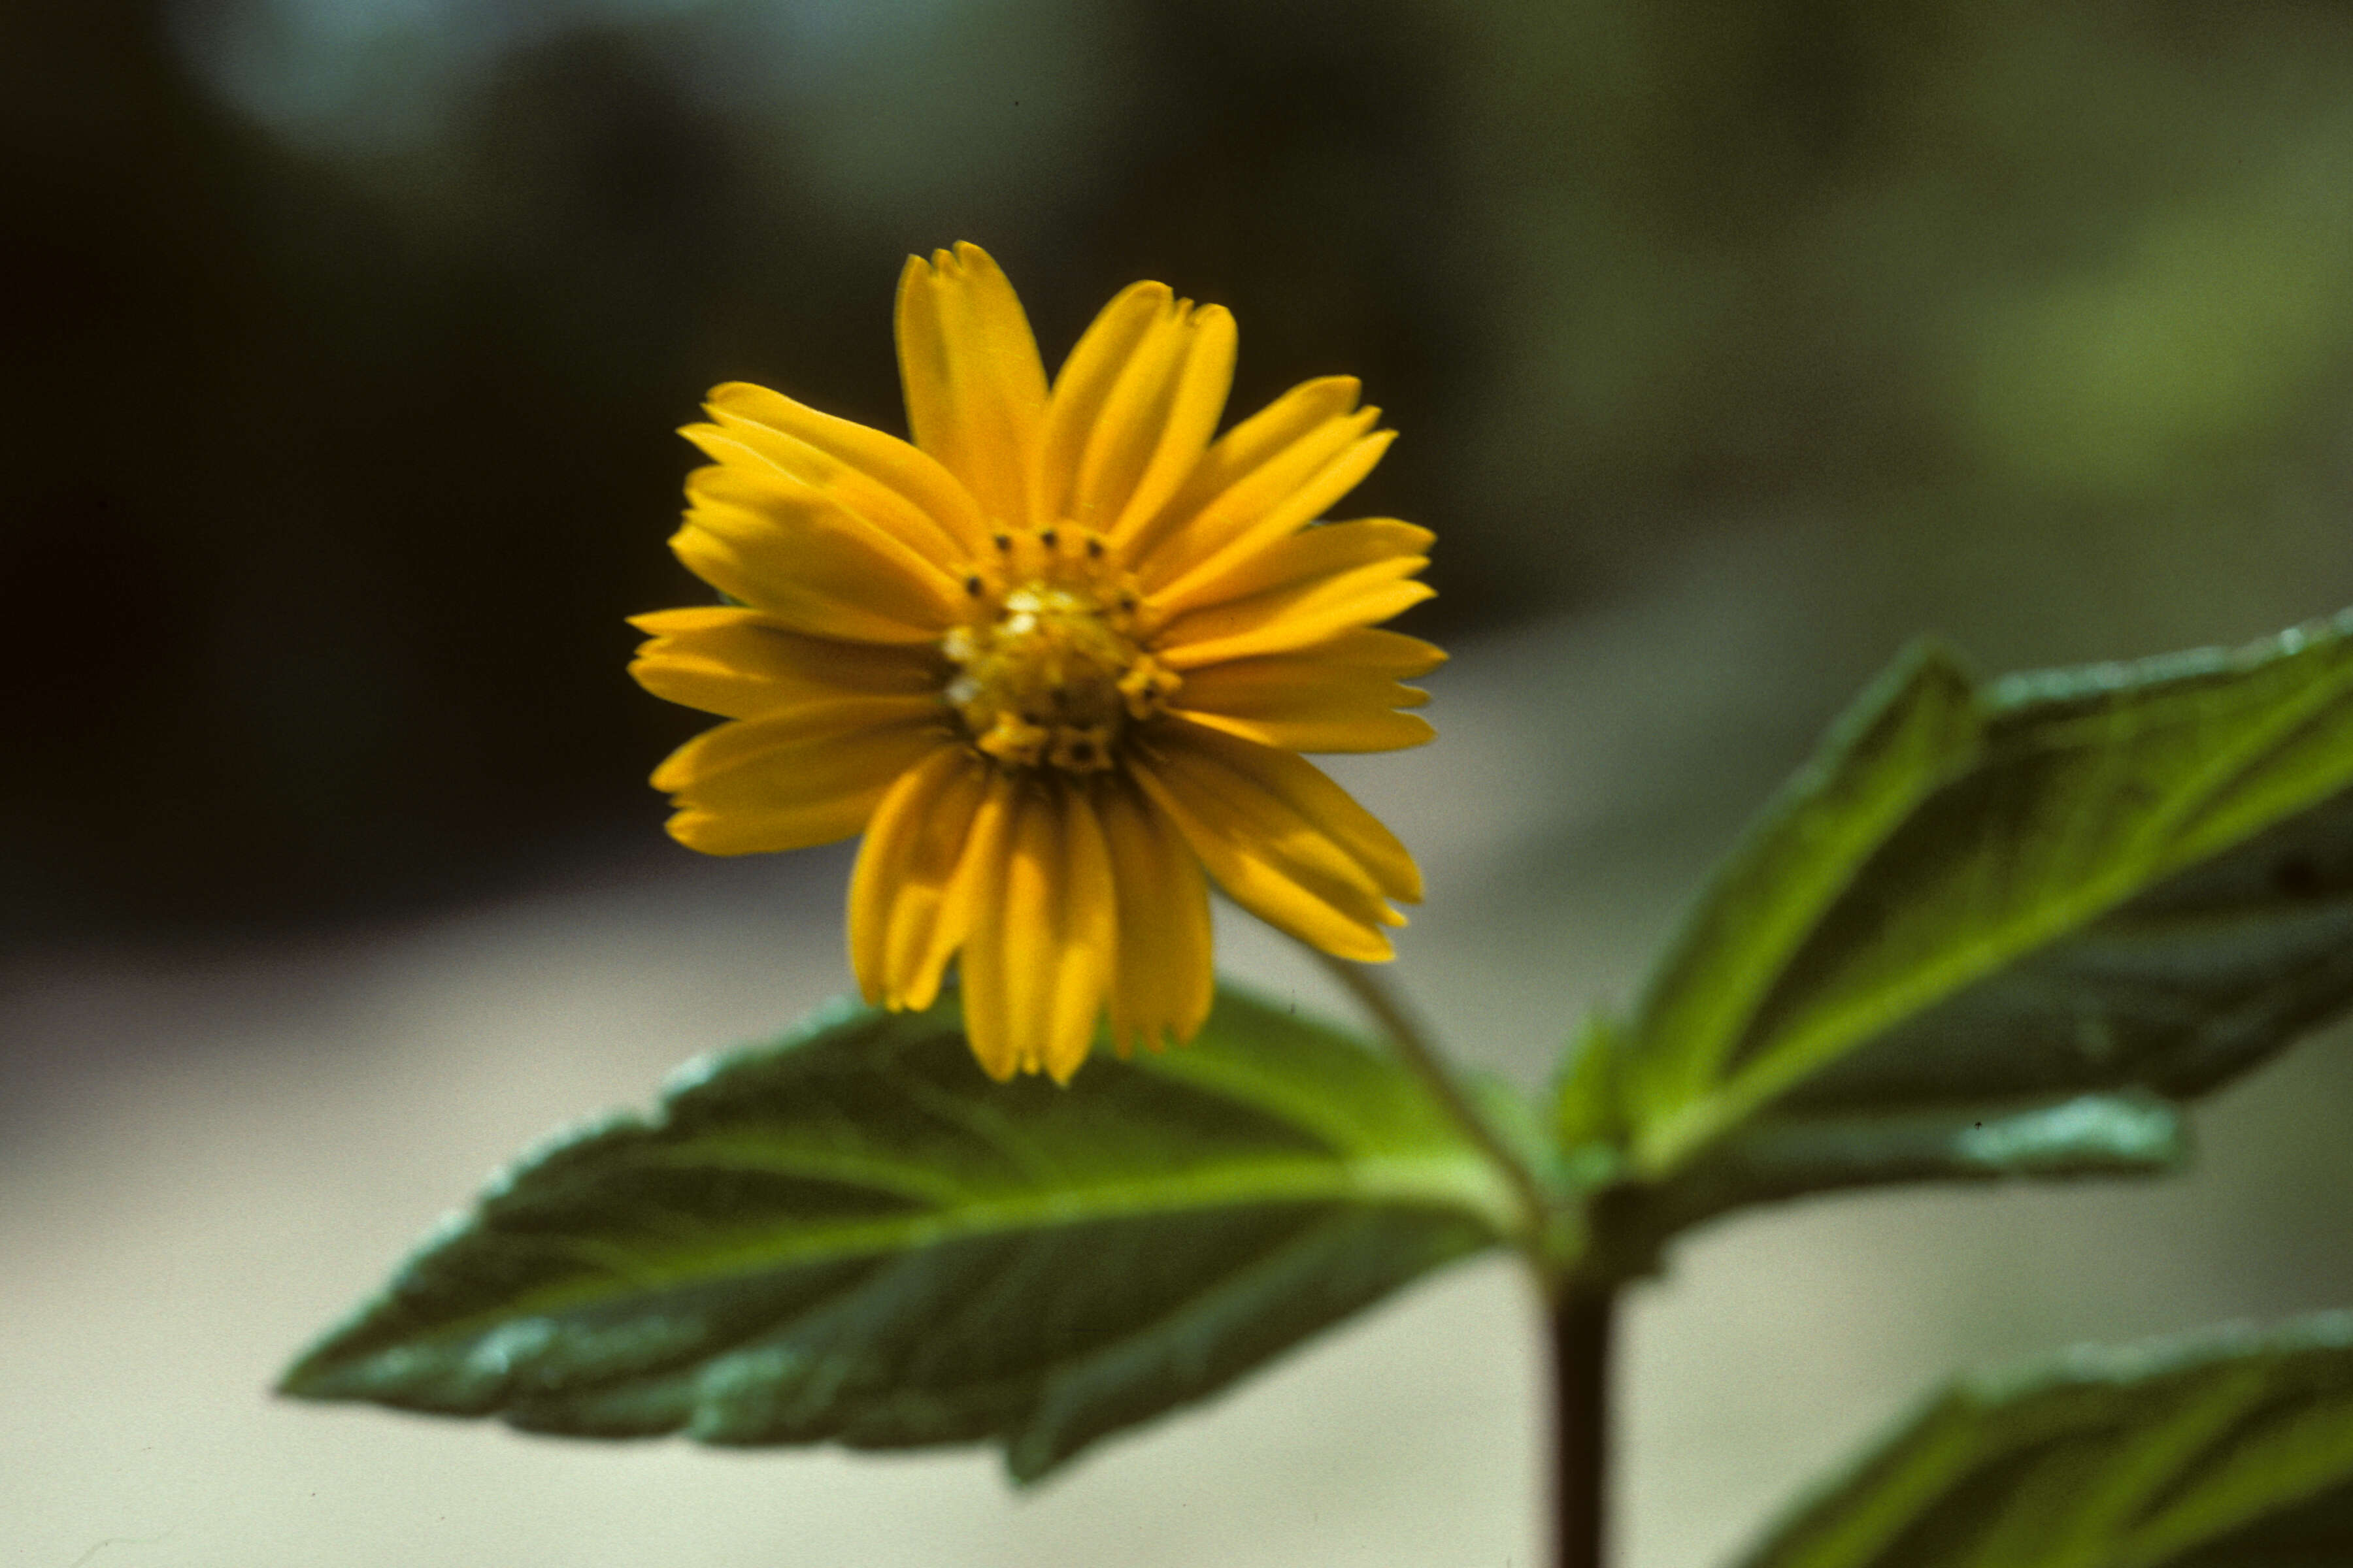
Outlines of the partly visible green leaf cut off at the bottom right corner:
[[1965,1380],[1746,1568],[2353,1561],[2353,1314]]

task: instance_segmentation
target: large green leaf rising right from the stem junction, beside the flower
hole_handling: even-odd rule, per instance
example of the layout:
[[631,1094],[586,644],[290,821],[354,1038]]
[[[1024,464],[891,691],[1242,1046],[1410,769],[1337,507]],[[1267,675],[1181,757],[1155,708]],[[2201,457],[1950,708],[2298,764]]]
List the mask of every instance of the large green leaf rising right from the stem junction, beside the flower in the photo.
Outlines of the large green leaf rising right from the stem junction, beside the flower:
[[2188,1098],[2353,1001],[2348,628],[1986,689],[1906,656],[1652,978],[1614,1074],[1633,1175],[1748,1161],[1767,1112]]

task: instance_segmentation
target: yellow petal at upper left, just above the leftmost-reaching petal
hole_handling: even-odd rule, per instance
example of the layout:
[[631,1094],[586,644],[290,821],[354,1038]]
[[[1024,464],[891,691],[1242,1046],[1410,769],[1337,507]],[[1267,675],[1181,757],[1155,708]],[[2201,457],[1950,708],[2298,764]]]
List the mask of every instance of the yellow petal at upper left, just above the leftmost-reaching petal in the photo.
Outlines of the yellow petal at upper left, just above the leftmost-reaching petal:
[[962,614],[958,585],[824,491],[732,463],[687,475],[671,550],[720,592],[814,637],[936,642]]

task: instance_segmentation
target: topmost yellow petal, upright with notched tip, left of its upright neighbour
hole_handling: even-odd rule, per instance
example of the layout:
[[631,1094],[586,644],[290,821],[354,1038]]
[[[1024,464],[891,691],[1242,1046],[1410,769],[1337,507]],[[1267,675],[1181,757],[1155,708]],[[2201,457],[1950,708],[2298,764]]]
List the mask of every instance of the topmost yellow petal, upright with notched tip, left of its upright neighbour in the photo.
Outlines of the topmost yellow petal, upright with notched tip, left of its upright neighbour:
[[1028,524],[1045,364],[1014,287],[979,244],[906,259],[899,381],[915,444],[972,491],[993,524]]

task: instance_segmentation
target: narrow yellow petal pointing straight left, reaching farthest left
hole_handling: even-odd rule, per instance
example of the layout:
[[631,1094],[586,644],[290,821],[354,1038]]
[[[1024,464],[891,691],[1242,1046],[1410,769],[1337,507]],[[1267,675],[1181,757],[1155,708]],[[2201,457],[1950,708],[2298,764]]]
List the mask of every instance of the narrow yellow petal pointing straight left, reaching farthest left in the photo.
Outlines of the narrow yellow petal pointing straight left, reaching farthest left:
[[631,616],[652,632],[628,672],[671,703],[748,719],[828,696],[922,696],[946,684],[932,649],[805,637],[755,609],[711,604]]

